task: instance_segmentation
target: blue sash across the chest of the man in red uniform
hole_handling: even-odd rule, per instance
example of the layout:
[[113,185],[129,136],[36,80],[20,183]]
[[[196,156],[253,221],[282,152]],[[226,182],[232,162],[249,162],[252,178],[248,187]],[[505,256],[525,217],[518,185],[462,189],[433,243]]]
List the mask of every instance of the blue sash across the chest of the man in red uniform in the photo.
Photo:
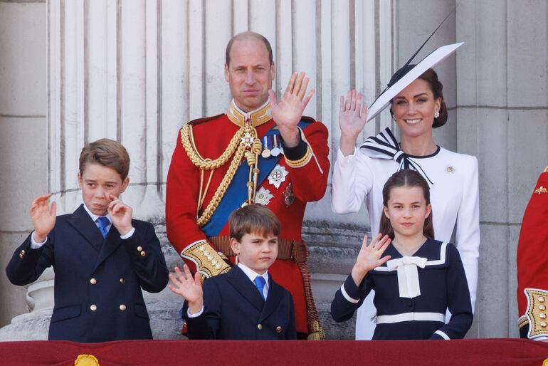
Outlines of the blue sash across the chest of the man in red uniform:
[[[309,121],[301,120],[299,122],[299,127],[304,129],[309,124]],[[275,127],[276,125],[273,125],[273,127],[266,132],[265,136],[279,135],[279,132]],[[260,184],[263,184],[263,181],[268,177],[276,164],[278,164],[280,157],[282,157],[282,154],[277,157],[270,156],[265,159],[259,154],[258,167],[260,172],[257,178],[257,188],[260,187]],[[226,225],[228,216],[230,216],[232,211],[240,207],[243,202],[246,202],[248,199],[246,184],[249,181],[249,169],[249,165],[246,162],[243,162],[236,170],[236,174],[234,174],[231,184],[228,185],[223,199],[219,202],[214,214],[211,215],[211,219],[209,219],[207,224],[201,227],[201,231],[204,231],[206,236],[218,236],[218,233],[221,232]]]

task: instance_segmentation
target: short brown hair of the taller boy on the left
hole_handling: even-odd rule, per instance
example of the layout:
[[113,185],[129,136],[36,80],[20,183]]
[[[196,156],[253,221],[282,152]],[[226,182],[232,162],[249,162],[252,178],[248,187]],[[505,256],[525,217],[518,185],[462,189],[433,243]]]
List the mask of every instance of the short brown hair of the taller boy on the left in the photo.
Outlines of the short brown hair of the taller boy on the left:
[[100,164],[114,169],[123,181],[130,172],[130,155],[120,142],[100,139],[86,144],[80,152],[80,174],[84,174],[88,164]]

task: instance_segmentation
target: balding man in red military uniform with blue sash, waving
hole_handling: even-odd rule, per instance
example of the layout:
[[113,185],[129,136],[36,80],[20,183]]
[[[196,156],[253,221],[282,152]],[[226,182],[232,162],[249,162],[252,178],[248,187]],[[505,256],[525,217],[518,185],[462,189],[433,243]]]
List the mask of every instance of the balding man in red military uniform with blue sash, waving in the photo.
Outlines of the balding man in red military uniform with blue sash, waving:
[[228,112],[191,121],[177,135],[167,175],[168,239],[192,271],[225,273],[237,261],[228,215],[246,203],[268,206],[281,223],[278,259],[268,271],[293,295],[297,333],[322,339],[301,239],[306,202],[324,196],[330,169],[327,128],[302,117],[314,91],[306,93],[308,78],[294,73],[278,100],[272,48],[253,32],[228,43],[225,78]]

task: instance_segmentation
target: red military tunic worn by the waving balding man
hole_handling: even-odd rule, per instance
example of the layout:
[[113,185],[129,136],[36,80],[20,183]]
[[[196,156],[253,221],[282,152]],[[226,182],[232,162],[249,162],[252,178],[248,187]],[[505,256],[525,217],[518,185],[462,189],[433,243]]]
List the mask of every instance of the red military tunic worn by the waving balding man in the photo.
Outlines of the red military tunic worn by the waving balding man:
[[[266,113],[262,114],[262,117],[267,115],[266,118],[253,120],[253,113],[250,113],[252,117],[251,122],[253,122],[258,137],[263,137],[275,125],[273,120],[270,119],[269,108],[270,105],[267,103],[263,108],[259,109],[263,110],[263,112],[266,110]],[[232,103],[228,113],[232,114],[233,120],[236,120],[234,113],[237,114],[238,112],[241,114],[241,111],[234,108]],[[242,116],[237,115],[236,117]],[[211,160],[216,160],[225,152],[232,137],[241,128],[229,119],[226,114],[195,120],[189,123],[192,125],[192,137],[194,138],[191,140],[193,140],[192,143],[196,152],[199,152],[201,158],[209,158]],[[260,191],[261,187],[264,187],[273,196],[270,197],[268,195],[264,200],[265,196],[263,195],[263,202],[259,203],[265,204],[278,216],[281,224],[279,239],[301,241],[302,217],[305,214],[306,202],[314,202],[321,199],[327,187],[327,175],[330,169],[330,162],[327,157],[329,153],[327,128],[321,122],[312,122],[302,130],[302,134],[304,134],[302,140],[309,147],[307,155],[312,156],[304,164],[303,162],[295,164],[295,162],[288,161],[285,156],[280,157],[278,164],[288,172],[284,177],[285,180],[281,181],[279,179],[281,182],[275,182],[279,184],[279,187],[275,187],[275,184],[269,182],[267,178],[257,187],[257,192]],[[202,186],[201,192],[204,192],[204,187],[206,187],[209,180],[211,170],[204,171],[204,179],[202,179],[201,184],[202,171],[191,162],[189,155],[181,143],[181,133],[179,132],[177,135],[177,143],[167,175],[167,237],[176,251],[184,257],[186,264],[189,265],[192,271],[199,269],[196,268],[196,266],[199,266],[199,263],[189,260],[191,258],[185,256],[184,251],[191,244],[206,240],[206,234],[196,224],[196,215],[198,214],[199,216],[206,209],[209,202],[211,202],[217,187],[221,184],[228,170],[230,162],[231,159],[217,169],[214,169],[209,189],[207,189],[199,212],[197,212],[200,186]],[[245,160],[243,164],[246,164]],[[258,168],[260,169],[260,165]],[[241,189],[247,191],[246,185],[242,184]],[[294,197],[291,197],[291,193],[293,193]],[[241,204],[243,202],[238,202],[238,206]],[[226,223],[218,236],[228,235],[228,223]],[[211,244],[211,241],[209,244],[215,248]],[[203,250],[201,249],[201,251]],[[218,251],[217,248],[215,250]],[[234,263],[232,256],[228,258],[231,263]],[[268,271],[273,275],[277,283],[287,288],[293,295],[297,332],[309,333],[310,318],[307,322],[307,310],[310,311],[310,307],[314,307],[314,303],[311,298],[308,299],[309,305],[307,309],[305,286],[299,266],[293,260],[280,259],[280,254],[278,254],[278,260],[273,263],[273,266]],[[312,301],[311,304],[310,301]],[[315,308],[313,311],[315,313]]]

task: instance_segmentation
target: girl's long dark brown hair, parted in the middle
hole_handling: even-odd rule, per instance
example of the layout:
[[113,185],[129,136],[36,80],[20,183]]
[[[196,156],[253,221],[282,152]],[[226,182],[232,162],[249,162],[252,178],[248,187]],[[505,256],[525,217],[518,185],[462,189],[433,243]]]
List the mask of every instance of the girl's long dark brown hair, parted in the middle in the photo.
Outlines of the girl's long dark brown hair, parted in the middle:
[[[390,192],[393,188],[397,187],[419,187],[423,190],[424,199],[426,204],[430,204],[430,187],[426,179],[417,172],[411,169],[401,169],[399,172],[395,172],[386,181],[382,189],[382,204],[384,207],[388,207],[390,199]],[[384,214],[384,210],[381,214],[381,224],[379,225],[379,233],[388,235],[390,239],[394,240],[394,228],[390,224],[390,220]],[[423,235],[427,238],[434,239],[434,226],[432,224],[432,211],[428,217],[424,220]]]

